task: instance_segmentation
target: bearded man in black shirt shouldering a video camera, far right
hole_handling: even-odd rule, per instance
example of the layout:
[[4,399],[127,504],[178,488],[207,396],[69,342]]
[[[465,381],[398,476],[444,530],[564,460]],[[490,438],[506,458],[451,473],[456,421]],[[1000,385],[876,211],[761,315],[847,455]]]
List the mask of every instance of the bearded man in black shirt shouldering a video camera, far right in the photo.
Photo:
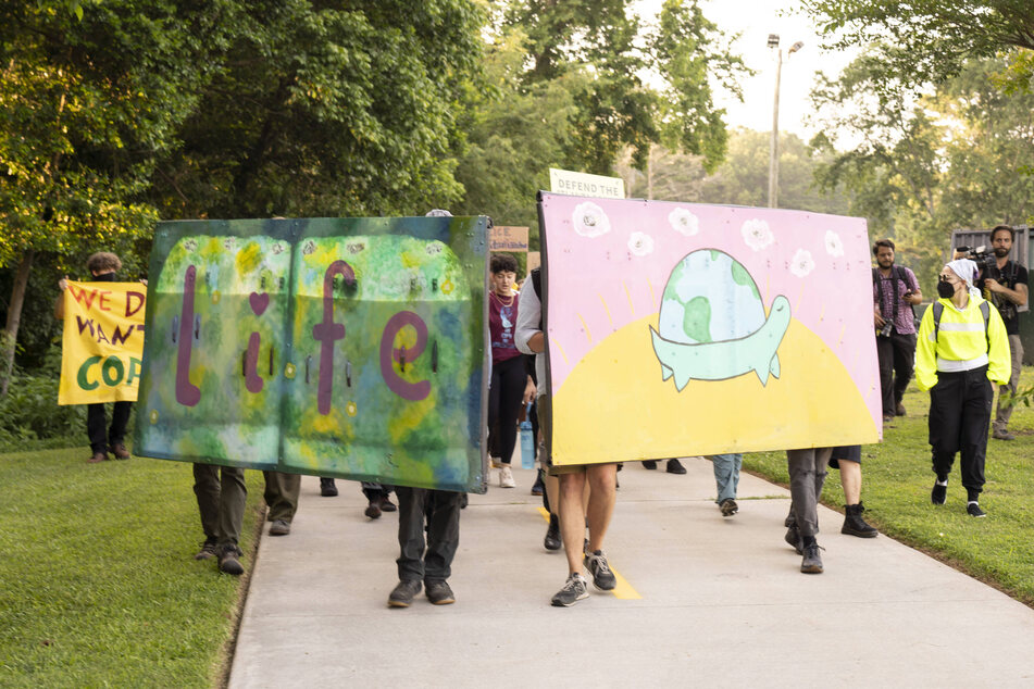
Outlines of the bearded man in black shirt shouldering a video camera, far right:
[[1012,416],[1013,397],[1020,384],[1020,366],[1023,363],[1020,314],[1017,308],[1026,303],[1026,268],[1009,260],[1013,238],[1014,231],[1008,225],[998,225],[991,230],[995,265],[989,265],[989,261],[985,262],[976,284],[984,299],[994,304],[1001,315],[1006,333],[1009,334],[1009,349],[1012,353],[1012,375],[1009,377],[1009,385],[998,388],[998,411],[993,424],[993,437],[998,440],[1016,440],[1016,436],[1009,433],[1009,417]]

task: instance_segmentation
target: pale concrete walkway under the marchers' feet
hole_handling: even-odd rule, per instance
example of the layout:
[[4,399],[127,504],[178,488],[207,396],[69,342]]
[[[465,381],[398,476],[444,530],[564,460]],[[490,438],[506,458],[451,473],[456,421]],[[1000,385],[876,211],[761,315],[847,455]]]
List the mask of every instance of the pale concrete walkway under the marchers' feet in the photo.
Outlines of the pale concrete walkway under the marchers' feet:
[[[540,499],[471,496],[450,579],[389,609],[396,514],[367,519],[359,485],[306,477],[291,535],[263,536],[231,676],[258,687],[1031,686],[1034,611],[889,538],[843,536],[820,508],[825,573],[784,541],[788,491],[752,476],[739,514],[686,476],[628,464],[607,553],[625,598],[549,605],[566,576],[543,549]],[[591,589],[591,586],[590,586]]]

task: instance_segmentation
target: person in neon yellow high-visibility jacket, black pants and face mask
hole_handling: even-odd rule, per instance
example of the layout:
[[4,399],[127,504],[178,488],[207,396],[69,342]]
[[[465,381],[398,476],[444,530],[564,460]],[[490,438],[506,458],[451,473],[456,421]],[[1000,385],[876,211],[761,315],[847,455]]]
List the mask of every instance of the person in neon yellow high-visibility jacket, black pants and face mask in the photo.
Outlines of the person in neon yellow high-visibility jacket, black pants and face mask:
[[[940,271],[940,297],[923,314],[915,347],[915,381],[930,390],[930,446],[937,475],[930,500],[944,504],[948,474],[960,454],[962,486],[970,516],[986,516],[980,506],[984,487],[987,427],[994,400],[992,384],[1011,374],[1009,336],[998,315],[973,287],[976,264],[951,261]],[[939,323],[937,314],[939,312]]]

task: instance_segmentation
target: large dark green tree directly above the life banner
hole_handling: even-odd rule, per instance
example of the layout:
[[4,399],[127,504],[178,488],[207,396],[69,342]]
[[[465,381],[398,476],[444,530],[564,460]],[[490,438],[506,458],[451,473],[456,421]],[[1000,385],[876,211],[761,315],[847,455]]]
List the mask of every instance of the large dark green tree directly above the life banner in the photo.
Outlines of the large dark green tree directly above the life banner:
[[166,217],[447,206],[483,24],[469,0],[249,3],[148,198]]

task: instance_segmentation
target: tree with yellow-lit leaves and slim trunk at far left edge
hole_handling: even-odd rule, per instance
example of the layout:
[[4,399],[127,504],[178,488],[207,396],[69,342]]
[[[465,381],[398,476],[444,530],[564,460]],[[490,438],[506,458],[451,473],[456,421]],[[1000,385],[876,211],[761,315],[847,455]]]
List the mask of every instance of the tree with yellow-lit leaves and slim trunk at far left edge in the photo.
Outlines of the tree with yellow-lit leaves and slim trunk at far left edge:
[[191,111],[233,25],[227,0],[37,0],[0,5],[0,266],[14,267],[0,337],[5,394],[37,255],[125,246],[137,199]]

